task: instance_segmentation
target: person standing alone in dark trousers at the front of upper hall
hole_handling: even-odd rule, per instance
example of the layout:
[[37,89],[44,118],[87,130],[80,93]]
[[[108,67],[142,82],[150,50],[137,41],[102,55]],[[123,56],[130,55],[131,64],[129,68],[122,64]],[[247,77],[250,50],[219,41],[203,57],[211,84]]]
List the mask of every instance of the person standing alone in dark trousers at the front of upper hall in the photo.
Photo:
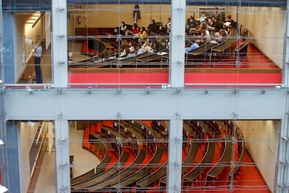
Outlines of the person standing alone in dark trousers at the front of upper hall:
[[32,46],[34,48],[34,64],[35,64],[36,83],[43,83],[42,69],[41,69],[41,65],[40,65],[41,55],[42,55],[41,41],[38,41],[36,46],[32,42]]

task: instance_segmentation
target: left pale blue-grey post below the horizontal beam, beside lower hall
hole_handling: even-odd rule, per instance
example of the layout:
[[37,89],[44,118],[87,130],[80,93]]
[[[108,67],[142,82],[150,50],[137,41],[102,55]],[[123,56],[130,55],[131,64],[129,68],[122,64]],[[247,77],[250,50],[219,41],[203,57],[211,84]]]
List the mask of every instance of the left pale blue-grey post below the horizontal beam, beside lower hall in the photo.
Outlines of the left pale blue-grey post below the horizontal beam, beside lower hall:
[[68,121],[55,121],[57,192],[71,192]]

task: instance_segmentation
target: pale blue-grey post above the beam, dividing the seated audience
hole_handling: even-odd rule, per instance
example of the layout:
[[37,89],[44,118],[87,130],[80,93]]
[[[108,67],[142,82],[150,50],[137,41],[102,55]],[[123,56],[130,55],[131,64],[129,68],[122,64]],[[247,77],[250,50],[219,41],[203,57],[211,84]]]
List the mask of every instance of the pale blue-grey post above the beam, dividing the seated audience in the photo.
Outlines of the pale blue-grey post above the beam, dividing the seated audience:
[[170,31],[170,85],[184,87],[184,42],[186,1],[172,0]]

